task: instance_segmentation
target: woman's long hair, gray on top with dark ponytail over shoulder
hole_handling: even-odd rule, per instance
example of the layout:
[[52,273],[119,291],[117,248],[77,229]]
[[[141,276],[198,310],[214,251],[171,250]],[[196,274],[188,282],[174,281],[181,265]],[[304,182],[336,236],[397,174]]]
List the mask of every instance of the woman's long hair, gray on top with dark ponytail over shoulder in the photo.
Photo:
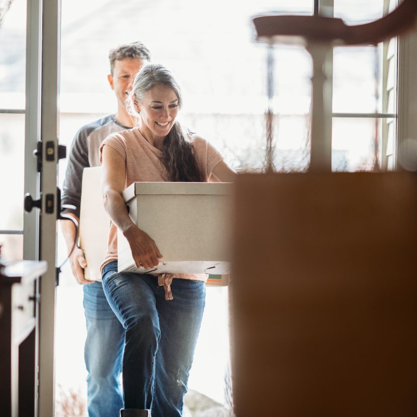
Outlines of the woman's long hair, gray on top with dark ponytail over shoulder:
[[[180,86],[171,72],[160,64],[144,65],[136,74],[129,94],[127,108],[133,116],[139,116],[133,104],[141,102],[143,96],[157,84],[165,85],[174,90],[178,98],[178,106],[182,106]],[[167,179],[173,182],[202,182],[203,175],[198,168],[194,156],[191,135],[175,122],[162,143],[162,166],[167,172]]]

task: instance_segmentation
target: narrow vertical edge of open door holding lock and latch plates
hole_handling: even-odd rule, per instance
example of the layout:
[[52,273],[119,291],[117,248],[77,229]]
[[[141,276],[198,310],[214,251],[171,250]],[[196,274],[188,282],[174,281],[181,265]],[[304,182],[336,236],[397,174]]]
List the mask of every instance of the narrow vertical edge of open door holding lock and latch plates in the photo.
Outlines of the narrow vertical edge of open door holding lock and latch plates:
[[55,355],[54,328],[56,304],[56,220],[57,164],[59,132],[59,73],[61,41],[60,0],[43,0],[42,5],[42,82],[41,138],[42,214],[40,221],[40,259],[48,271],[40,280],[39,314],[39,416],[54,416]]

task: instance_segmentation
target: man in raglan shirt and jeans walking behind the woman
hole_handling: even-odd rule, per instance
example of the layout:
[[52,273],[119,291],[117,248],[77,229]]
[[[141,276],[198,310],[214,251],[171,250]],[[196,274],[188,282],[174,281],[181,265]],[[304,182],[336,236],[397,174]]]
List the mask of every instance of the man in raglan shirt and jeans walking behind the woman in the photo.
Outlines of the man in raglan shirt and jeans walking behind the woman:
[[[140,67],[150,60],[150,53],[141,42],[134,42],[111,50],[109,60],[110,74],[107,78],[116,95],[116,113],[104,116],[78,130],[68,157],[62,204],[76,206],[76,210],[66,211],[77,219],[82,170],[85,167],[100,165],[98,150],[108,134],[133,127],[125,101],[130,82]],[[72,221],[66,220],[61,223],[70,251],[76,238],[76,228]],[[84,285],[83,305],[87,323],[84,358],[88,371],[88,416],[116,417],[123,408],[119,376],[125,331],[107,303],[102,283],[85,279],[83,268],[87,263],[79,247],[71,254],[70,263],[78,284]],[[99,274],[97,271],[97,275]]]

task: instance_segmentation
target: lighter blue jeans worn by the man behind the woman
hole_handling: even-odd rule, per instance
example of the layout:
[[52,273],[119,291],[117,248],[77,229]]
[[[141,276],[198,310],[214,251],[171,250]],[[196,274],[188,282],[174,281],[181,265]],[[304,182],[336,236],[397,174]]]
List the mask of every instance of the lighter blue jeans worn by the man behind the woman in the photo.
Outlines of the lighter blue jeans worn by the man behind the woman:
[[123,406],[119,377],[125,329],[108,305],[101,282],[84,285],[83,289],[88,416],[118,417]]

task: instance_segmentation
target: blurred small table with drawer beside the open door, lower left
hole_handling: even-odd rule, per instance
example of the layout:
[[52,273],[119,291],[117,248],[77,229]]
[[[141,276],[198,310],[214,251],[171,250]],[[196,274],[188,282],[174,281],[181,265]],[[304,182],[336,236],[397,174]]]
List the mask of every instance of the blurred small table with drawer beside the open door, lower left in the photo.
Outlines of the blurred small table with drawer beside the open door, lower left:
[[0,415],[36,414],[38,278],[45,261],[0,265]]

